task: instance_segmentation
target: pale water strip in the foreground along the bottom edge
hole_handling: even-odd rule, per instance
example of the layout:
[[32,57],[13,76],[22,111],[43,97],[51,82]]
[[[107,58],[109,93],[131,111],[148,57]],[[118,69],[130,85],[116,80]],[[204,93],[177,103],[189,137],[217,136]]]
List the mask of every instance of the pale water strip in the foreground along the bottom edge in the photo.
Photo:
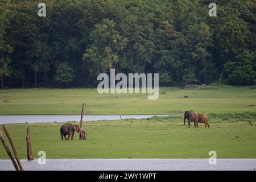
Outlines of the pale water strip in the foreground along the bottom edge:
[[[255,171],[256,159],[217,159],[210,165],[208,159],[47,159],[46,165],[37,160],[21,160],[27,171]],[[11,160],[0,160],[0,170],[14,170]]]

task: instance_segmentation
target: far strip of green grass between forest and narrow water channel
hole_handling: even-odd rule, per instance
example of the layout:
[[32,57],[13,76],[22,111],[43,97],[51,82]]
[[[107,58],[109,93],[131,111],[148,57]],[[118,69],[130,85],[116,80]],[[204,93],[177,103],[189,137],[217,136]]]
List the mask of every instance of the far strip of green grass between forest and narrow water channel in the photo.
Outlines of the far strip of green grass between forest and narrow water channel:
[[147,100],[147,94],[98,94],[97,89],[0,90],[0,114],[80,114],[82,102],[85,114],[172,114],[191,109],[204,113],[255,111],[255,106],[249,105],[256,105],[256,90],[250,87],[159,90],[167,94],[159,95],[158,100]]

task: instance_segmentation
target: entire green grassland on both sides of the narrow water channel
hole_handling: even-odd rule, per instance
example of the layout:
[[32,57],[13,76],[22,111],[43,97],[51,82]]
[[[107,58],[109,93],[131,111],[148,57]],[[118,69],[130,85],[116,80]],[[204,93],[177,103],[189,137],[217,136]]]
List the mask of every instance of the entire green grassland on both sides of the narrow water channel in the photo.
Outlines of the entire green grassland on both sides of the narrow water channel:
[[[210,128],[183,126],[183,118],[154,117],[84,123],[86,141],[61,141],[63,123],[33,123],[32,150],[47,158],[256,158],[256,90],[160,88],[158,100],[147,94],[98,94],[97,89],[0,90],[0,114],[173,114],[195,110],[209,114]],[[54,96],[53,96],[54,94]],[[188,99],[184,99],[188,96]],[[118,98],[117,98],[118,97]],[[20,158],[26,158],[28,124],[7,125]],[[0,159],[8,156],[0,145]]]

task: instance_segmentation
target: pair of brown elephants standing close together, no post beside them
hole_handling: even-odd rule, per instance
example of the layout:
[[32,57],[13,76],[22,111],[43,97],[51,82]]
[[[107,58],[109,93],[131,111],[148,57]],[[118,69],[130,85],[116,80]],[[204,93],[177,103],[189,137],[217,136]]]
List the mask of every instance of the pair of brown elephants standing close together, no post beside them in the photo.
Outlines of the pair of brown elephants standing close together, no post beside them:
[[205,127],[210,127],[209,125],[209,118],[206,114],[196,113],[193,110],[187,110],[184,112],[184,125],[188,119],[188,127],[191,127],[191,122],[194,123],[195,127],[199,127],[198,123],[204,123]]

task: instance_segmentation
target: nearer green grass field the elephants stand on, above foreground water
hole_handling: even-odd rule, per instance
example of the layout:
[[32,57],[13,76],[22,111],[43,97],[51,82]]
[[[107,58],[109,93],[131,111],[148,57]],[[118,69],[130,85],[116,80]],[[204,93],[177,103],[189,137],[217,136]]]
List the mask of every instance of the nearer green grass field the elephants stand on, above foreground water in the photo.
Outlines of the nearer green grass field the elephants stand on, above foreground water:
[[[256,158],[256,127],[251,118],[232,115],[210,118],[210,128],[183,126],[182,117],[154,117],[123,121],[86,122],[88,139],[61,141],[63,123],[30,124],[32,151],[46,151],[47,158]],[[234,118],[236,116],[233,115]],[[20,158],[26,159],[27,124],[7,125]],[[236,138],[239,137],[239,138]],[[8,159],[0,145],[0,159]]]

